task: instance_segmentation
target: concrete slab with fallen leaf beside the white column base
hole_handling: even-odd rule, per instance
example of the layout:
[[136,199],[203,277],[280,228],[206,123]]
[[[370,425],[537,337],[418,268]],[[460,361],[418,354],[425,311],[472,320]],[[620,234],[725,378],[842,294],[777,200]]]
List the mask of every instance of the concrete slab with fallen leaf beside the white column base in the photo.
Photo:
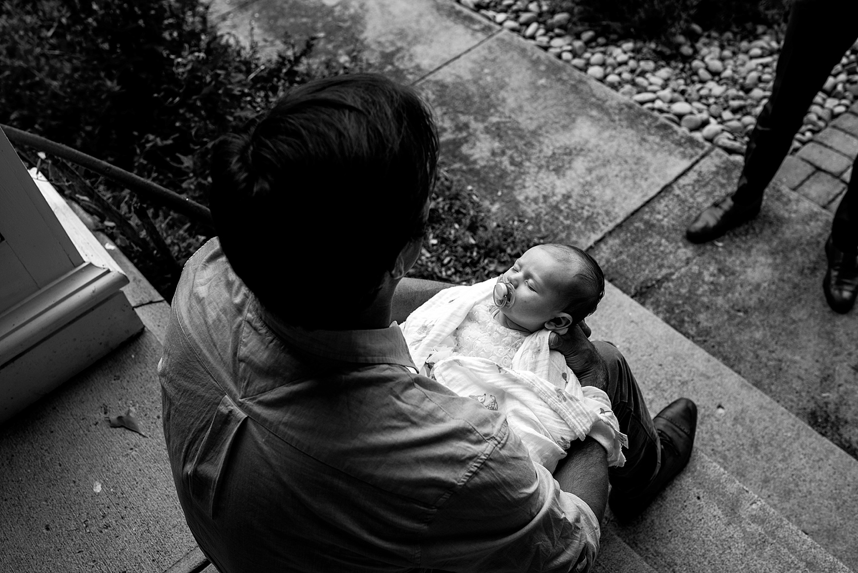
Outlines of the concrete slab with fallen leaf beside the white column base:
[[[165,570],[194,545],[160,428],[151,332],[0,428],[0,570]],[[104,416],[133,406],[148,437]]]

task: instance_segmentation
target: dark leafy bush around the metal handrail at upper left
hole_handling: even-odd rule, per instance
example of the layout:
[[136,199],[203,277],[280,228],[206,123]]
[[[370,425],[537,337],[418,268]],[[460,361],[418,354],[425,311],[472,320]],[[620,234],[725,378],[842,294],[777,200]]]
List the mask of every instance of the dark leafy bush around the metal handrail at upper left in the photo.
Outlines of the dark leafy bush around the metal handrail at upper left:
[[[257,45],[218,34],[200,0],[4,0],[2,7],[0,123],[66,143],[203,204],[210,141],[269,107],[287,87],[350,68],[347,59],[313,63],[311,41],[287,41],[275,58],[263,59]],[[52,164],[54,171],[69,170]],[[76,183],[83,175],[148,235],[140,220],[148,217],[135,212],[130,192],[82,172],[65,175]],[[175,263],[115,232],[124,225],[97,204],[82,205],[108,219],[106,230],[169,297]],[[156,209],[153,218],[179,264],[205,238],[184,216]]]

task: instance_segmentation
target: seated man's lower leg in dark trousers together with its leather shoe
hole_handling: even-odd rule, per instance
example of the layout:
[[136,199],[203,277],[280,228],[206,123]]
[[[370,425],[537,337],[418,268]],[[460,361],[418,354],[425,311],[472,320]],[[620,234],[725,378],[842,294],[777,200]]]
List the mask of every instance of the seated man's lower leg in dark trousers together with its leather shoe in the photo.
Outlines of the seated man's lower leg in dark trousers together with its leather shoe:
[[607,366],[607,388],[620,430],[628,437],[625,465],[610,468],[610,504],[619,519],[643,511],[670,479],[686,466],[697,427],[697,406],[678,399],[650,417],[644,394],[625,357],[613,344],[593,342]]

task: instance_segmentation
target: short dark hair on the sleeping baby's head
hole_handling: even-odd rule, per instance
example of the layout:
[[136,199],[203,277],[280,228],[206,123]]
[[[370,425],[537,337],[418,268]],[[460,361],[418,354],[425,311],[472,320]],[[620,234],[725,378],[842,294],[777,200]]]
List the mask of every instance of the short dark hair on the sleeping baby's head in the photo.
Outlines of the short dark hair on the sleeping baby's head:
[[571,245],[547,243],[540,247],[551,253],[559,263],[580,267],[565,285],[566,305],[563,312],[571,315],[572,324],[581,322],[595,312],[601,297],[605,296],[605,275],[599,263],[583,249]]

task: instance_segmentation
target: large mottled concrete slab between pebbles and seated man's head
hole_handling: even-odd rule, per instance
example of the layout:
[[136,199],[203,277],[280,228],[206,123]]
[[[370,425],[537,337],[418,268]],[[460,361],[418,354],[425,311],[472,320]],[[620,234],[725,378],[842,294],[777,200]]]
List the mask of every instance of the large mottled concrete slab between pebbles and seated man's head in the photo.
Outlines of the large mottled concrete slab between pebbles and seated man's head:
[[707,149],[505,31],[418,87],[450,169],[550,241],[589,246]]

